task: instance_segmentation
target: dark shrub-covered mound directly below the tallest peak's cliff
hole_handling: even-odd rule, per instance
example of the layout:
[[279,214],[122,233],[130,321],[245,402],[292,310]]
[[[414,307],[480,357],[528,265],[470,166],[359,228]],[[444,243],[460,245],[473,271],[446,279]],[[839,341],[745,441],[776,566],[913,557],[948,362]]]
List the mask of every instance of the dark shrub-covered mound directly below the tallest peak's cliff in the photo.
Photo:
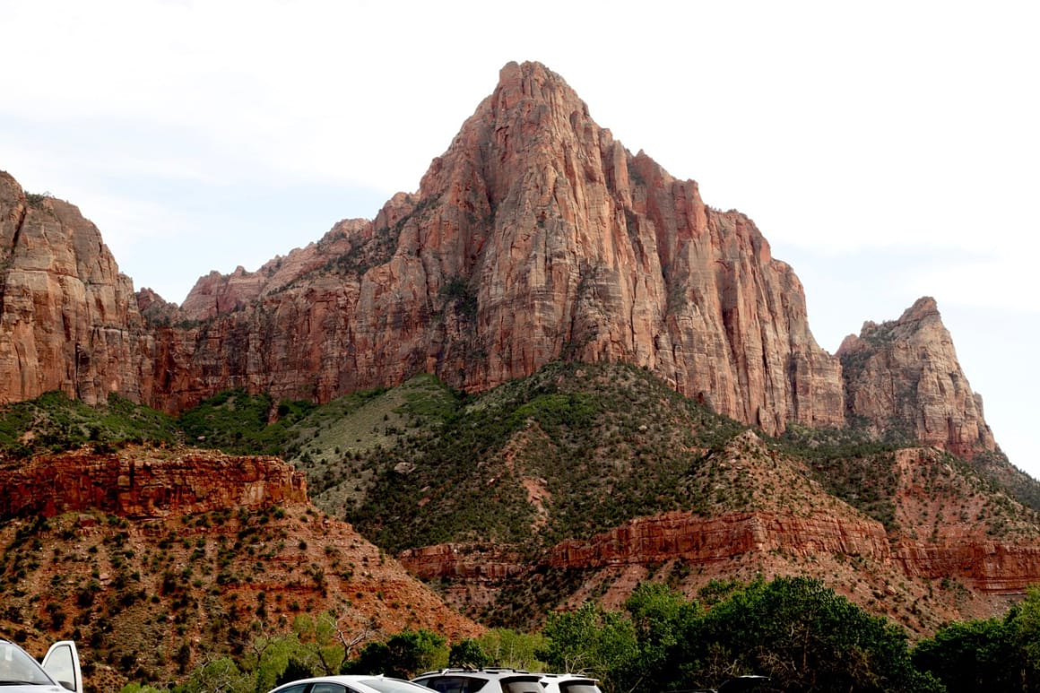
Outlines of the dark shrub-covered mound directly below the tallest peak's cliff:
[[535,549],[698,506],[683,478],[743,429],[639,368],[550,364],[462,402],[436,435],[420,428],[361,453],[376,491],[346,517],[389,550]]

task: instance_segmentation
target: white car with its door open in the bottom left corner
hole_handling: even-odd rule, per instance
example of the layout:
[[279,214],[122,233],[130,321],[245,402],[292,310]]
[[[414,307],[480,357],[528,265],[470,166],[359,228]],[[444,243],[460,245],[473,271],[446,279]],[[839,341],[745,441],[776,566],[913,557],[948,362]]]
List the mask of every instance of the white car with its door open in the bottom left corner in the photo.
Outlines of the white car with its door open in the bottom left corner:
[[41,664],[15,643],[0,639],[0,688],[3,693],[83,693],[76,643],[54,643]]

